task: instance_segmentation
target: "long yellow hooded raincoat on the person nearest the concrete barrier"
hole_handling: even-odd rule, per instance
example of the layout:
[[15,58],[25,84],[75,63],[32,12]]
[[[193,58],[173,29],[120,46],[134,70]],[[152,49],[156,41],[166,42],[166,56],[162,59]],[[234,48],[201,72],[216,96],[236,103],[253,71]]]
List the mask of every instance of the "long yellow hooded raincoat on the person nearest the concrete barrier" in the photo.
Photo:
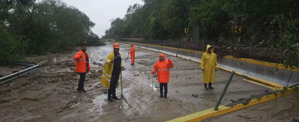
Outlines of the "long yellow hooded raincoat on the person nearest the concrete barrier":
[[215,68],[217,67],[216,54],[214,53],[214,48],[212,48],[211,54],[208,53],[208,48],[212,46],[207,45],[207,50],[201,57],[200,66],[203,71],[204,83],[214,83]]

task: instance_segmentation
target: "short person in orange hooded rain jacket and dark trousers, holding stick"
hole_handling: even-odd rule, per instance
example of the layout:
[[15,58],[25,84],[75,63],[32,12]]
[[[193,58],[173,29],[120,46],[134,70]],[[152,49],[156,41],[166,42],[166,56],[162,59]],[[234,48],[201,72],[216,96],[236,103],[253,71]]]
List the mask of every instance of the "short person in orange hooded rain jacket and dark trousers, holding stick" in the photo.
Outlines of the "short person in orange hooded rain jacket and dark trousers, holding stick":
[[164,98],[167,98],[167,84],[169,82],[170,68],[173,67],[173,63],[170,59],[166,60],[163,53],[159,55],[159,60],[154,65],[152,74],[157,72],[158,82],[160,84],[160,97],[163,97],[163,87],[164,87]]

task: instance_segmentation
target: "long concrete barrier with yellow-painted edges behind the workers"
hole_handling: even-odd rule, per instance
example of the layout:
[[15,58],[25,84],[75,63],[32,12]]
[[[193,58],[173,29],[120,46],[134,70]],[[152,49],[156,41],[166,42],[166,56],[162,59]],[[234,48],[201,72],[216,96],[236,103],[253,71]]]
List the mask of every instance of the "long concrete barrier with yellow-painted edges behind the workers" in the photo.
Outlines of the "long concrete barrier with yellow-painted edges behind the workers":
[[[131,42],[117,42],[124,45],[131,44]],[[198,63],[200,63],[201,57],[204,53],[201,51],[171,48],[159,45],[146,45],[139,43],[134,44],[138,45],[140,48],[162,52]],[[286,86],[288,81],[289,84],[294,84],[299,81],[298,67],[295,67],[294,69],[286,69],[282,64],[257,61],[253,59],[236,58],[233,56],[221,56],[218,57],[217,60],[218,67],[223,70],[229,72],[235,71],[237,75],[246,76],[252,80],[259,81],[276,88],[282,88],[283,86]],[[276,69],[278,70],[276,71]],[[291,72],[292,76],[290,77]]]

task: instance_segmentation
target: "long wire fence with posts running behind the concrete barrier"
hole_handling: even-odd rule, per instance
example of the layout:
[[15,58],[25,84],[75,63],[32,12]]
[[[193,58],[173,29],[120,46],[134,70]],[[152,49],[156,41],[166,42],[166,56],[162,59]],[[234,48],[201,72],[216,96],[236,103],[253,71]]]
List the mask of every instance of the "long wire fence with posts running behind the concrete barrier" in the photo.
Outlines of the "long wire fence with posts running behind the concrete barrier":
[[173,48],[182,48],[206,52],[207,45],[214,48],[218,56],[234,56],[237,58],[254,59],[272,63],[283,63],[283,53],[279,48],[268,47],[264,41],[240,43],[236,41],[177,41],[177,40],[151,40],[151,39],[116,39],[116,41],[160,45]]

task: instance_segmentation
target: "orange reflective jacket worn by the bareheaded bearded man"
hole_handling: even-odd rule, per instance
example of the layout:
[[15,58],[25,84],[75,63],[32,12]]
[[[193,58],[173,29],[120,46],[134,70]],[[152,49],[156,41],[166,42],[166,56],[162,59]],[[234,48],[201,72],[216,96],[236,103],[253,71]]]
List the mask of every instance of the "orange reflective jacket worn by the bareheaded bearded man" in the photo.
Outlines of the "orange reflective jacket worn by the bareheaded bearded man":
[[[85,52],[89,61],[89,56],[87,52]],[[80,58],[80,55],[82,54],[82,58]],[[73,59],[76,61],[76,72],[77,73],[84,73],[86,72],[86,57],[83,51],[79,51],[76,53],[76,55],[73,57]],[[88,69],[90,69],[90,65],[88,62]]]

